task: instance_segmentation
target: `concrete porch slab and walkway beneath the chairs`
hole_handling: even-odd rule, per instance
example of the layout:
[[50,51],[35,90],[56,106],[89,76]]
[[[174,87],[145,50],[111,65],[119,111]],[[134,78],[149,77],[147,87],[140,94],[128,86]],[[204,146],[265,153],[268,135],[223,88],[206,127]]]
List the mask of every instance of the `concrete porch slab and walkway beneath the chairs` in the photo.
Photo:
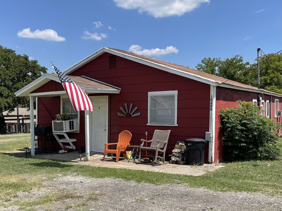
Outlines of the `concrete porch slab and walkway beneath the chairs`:
[[[25,157],[25,152],[6,152],[14,156]],[[85,153],[82,154],[82,161],[80,161],[80,154],[78,152],[69,152],[69,153],[57,153],[57,152],[46,152],[41,153],[40,151],[35,152],[35,156],[31,156],[28,152],[28,157],[36,159],[51,159],[56,161],[65,161],[65,162],[75,162],[76,165],[85,165],[85,166],[98,166],[98,167],[108,167],[108,168],[118,168],[118,169],[132,169],[132,170],[143,170],[143,171],[154,171],[154,172],[163,172],[163,173],[172,173],[172,174],[182,174],[182,175],[192,175],[199,176],[204,173],[215,171],[224,166],[215,165],[215,164],[204,164],[203,166],[189,166],[189,165],[177,165],[177,164],[164,164],[158,165],[155,163],[143,163],[135,160],[125,160],[120,158],[119,162],[115,162],[115,157],[106,157],[103,162],[103,154],[90,154],[89,161],[83,161]]]

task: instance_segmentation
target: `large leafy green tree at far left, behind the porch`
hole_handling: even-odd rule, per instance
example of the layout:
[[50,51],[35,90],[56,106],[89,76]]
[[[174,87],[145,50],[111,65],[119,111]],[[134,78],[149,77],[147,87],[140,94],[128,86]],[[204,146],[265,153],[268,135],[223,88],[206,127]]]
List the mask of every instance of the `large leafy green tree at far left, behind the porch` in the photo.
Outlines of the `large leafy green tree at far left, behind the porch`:
[[[16,97],[14,92],[31,83],[47,72],[37,60],[29,60],[27,55],[16,54],[16,51],[0,45],[0,111],[14,111],[14,108],[28,108],[29,99]],[[0,132],[5,133],[4,118],[0,118]]]

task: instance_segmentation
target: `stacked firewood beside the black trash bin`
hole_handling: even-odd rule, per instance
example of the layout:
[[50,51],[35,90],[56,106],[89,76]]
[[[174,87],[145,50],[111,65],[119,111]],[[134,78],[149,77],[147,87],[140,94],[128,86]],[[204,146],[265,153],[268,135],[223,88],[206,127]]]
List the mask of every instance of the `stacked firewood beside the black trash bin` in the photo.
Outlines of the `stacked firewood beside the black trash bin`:
[[185,142],[177,142],[174,149],[172,150],[171,160],[169,163],[171,164],[179,164],[183,165],[186,164],[186,144]]

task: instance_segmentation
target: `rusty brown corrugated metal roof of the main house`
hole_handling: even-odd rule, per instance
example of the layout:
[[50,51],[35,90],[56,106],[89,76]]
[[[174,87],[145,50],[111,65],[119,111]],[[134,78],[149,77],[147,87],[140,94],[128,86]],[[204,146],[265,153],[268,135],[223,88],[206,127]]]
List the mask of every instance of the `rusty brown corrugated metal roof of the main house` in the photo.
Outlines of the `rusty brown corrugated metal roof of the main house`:
[[123,51],[123,50],[120,50],[120,49],[109,48],[109,47],[105,47],[105,48],[108,48],[108,49],[113,50],[113,51],[120,52],[122,54],[129,55],[129,56],[132,56],[132,57],[136,57],[136,58],[139,58],[139,59],[142,59],[142,60],[146,60],[148,62],[152,62],[152,63],[158,64],[158,65],[161,65],[161,66],[165,66],[165,67],[174,69],[176,71],[186,72],[187,74],[199,76],[200,78],[216,81],[218,84],[228,84],[228,85],[237,86],[237,87],[241,87],[241,88],[253,89],[253,90],[256,90],[256,91],[265,91],[265,92],[268,92],[268,93],[280,95],[280,94],[275,93],[275,92],[271,92],[271,91],[268,91],[268,90],[265,90],[265,89],[258,89],[257,87],[254,87],[254,86],[249,86],[249,85],[246,85],[246,84],[239,83],[237,81],[228,80],[228,79],[225,79],[225,78],[222,78],[222,77],[219,77],[219,76],[215,76],[215,75],[205,73],[205,72],[202,72],[202,71],[199,71],[199,70],[196,70],[196,69],[192,69],[192,68],[189,68],[189,67],[185,67],[185,66],[182,66],[182,65],[165,62],[165,61],[162,61],[162,60],[159,60],[159,59],[154,59],[154,58],[151,58],[151,57],[138,55],[138,54]]

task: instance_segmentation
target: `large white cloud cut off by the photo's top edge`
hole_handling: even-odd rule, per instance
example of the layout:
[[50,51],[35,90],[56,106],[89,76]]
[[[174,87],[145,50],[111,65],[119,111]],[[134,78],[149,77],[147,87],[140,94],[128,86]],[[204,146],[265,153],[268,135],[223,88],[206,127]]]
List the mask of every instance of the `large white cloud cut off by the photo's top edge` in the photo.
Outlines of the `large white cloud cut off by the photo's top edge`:
[[155,18],[167,16],[181,16],[186,12],[193,11],[202,3],[210,0],[113,0],[116,6],[125,9],[138,9],[139,13],[147,12]]

